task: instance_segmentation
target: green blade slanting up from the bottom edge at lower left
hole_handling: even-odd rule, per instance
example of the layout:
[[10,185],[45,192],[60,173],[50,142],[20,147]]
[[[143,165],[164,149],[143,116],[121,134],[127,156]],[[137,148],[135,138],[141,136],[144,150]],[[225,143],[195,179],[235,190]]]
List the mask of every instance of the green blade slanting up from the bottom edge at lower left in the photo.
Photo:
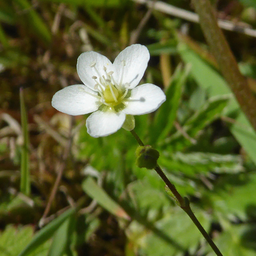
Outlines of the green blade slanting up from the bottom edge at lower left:
[[55,231],[65,222],[70,216],[74,215],[76,208],[72,208],[64,212],[62,215],[57,217],[55,220],[47,224],[44,228],[39,230],[32,241],[25,247],[25,249],[18,254],[18,256],[27,256],[29,253],[33,252],[42,243],[46,242],[49,238],[53,236]]

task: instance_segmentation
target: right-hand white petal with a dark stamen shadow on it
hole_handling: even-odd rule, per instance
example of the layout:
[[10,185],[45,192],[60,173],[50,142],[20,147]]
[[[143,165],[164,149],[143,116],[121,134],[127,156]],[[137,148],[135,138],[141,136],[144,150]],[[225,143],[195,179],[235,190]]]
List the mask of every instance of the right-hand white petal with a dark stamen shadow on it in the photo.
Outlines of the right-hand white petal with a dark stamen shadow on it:
[[145,83],[132,90],[127,106],[122,112],[129,115],[151,113],[157,110],[165,99],[166,96],[159,87]]

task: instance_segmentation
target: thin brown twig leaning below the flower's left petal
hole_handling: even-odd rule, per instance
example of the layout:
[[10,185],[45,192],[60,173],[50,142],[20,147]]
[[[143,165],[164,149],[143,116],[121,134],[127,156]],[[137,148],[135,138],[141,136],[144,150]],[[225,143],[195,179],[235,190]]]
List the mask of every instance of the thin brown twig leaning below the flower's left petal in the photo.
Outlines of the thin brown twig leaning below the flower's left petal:
[[59,164],[59,166],[57,168],[58,175],[57,175],[57,178],[56,178],[55,183],[53,185],[53,188],[52,188],[52,191],[51,191],[51,195],[50,195],[49,200],[47,202],[44,214],[42,215],[42,218],[39,221],[39,226],[43,226],[44,225],[45,218],[47,217],[47,215],[48,215],[48,213],[50,211],[53,199],[54,199],[54,197],[55,197],[55,195],[57,193],[57,189],[58,189],[58,186],[59,186],[59,183],[60,183],[63,171],[65,170],[65,167],[66,167],[66,161],[67,161],[68,156],[70,154],[71,145],[72,145],[72,141],[73,141],[73,136],[72,136],[73,120],[74,120],[74,118],[71,117],[71,124],[70,124],[68,144],[65,147],[65,150],[64,150],[61,162],[60,162],[60,164]]

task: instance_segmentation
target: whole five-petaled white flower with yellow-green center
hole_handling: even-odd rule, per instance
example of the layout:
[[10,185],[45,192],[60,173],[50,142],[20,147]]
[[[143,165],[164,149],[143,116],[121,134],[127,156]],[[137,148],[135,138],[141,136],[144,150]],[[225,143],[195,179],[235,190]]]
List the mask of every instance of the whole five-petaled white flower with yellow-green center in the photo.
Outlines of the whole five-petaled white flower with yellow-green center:
[[124,124],[125,115],[151,113],[165,101],[165,94],[154,84],[136,87],[149,59],[147,48],[138,44],[125,48],[114,63],[97,52],[84,52],[78,57],[77,72],[85,85],[58,91],[52,105],[73,116],[93,112],[86,121],[92,137],[113,134]]

